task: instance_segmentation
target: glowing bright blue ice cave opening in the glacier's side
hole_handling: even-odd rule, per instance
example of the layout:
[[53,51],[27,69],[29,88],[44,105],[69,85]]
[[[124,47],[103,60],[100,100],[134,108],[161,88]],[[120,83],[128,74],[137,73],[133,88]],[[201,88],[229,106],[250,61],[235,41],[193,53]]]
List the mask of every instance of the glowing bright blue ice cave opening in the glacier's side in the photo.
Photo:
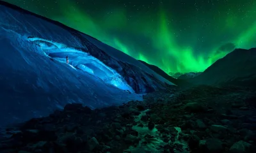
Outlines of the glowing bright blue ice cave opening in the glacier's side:
[[29,36],[28,40],[40,47],[42,51],[41,54],[63,63],[66,63],[66,57],[68,56],[68,65],[72,66],[72,68],[90,73],[100,78],[104,83],[114,85],[118,89],[134,93],[132,87],[127,84],[124,78],[119,75],[115,69],[109,68],[106,64],[89,53],[42,38]]

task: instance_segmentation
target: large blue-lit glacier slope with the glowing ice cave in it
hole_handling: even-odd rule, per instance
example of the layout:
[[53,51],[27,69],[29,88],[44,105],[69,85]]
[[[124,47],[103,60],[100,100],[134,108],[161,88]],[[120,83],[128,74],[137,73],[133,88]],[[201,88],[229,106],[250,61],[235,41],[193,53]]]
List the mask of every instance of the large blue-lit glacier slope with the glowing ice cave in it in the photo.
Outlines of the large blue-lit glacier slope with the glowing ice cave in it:
[[0,47],[0,125],[44,117],[67,103],[95,109],[141,101],[174,85],[95,38],[3,1]]

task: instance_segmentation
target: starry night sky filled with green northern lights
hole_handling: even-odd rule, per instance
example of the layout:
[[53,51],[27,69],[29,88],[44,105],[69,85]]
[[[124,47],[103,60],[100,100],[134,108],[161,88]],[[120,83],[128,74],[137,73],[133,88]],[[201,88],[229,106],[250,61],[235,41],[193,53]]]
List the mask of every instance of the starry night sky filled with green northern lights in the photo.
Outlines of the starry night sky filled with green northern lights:
[[255,0],[5,0],[169,72],[256,47]]

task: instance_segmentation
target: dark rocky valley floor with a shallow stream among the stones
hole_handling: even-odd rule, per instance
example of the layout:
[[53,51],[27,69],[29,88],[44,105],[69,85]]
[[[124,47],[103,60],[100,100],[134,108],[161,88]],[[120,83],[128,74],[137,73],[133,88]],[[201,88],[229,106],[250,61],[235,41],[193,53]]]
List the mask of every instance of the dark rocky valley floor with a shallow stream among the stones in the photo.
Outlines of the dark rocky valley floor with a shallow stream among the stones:
[[3,129],[0,152],[256,152],[256,90],[168,89],[142,102],[90,110],[66,105]]

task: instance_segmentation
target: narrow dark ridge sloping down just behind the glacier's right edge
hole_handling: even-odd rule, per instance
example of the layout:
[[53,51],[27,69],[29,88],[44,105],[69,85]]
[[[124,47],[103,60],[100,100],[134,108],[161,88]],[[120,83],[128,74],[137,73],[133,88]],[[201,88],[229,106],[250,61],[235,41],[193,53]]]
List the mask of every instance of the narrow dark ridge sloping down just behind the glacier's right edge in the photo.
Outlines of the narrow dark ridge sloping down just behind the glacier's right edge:
[[[138,60],[138,61],[140,61],[140,60]],[[171,77],[170,75],[165,73],[162,69],[158,68],[157,66],[148,64],[147,62],[144,62],[144,61],[140,61],[140,62],[142,62],[143,64],[148,66],[148,68],[152,69],[153,71],[155,71],[157,74],[161,75],[166,80],[172,82],[175,85],[178,85],[179,87],[188,87],[189,85],[191,85],[191,83],[187,82],[186,80],[179,80],[177,78]]]

